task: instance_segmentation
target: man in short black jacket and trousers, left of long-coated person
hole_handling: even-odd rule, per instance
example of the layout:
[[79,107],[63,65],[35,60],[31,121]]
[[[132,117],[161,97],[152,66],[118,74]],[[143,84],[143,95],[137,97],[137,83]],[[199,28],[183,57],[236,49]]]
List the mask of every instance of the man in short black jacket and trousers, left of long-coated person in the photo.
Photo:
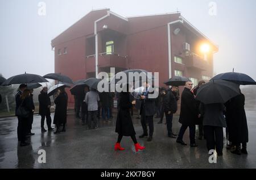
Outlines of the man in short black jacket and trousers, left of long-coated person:
[[46,129],[44,128],[44,119],[46,118],[46,124],[48,127],[48,131],[51,131],[51,99],[47,95],[48,88],[43,87],[42,91],[38,95],[38,101],[39,101],[39,115],[41,116],[41,131],[46,132]]

